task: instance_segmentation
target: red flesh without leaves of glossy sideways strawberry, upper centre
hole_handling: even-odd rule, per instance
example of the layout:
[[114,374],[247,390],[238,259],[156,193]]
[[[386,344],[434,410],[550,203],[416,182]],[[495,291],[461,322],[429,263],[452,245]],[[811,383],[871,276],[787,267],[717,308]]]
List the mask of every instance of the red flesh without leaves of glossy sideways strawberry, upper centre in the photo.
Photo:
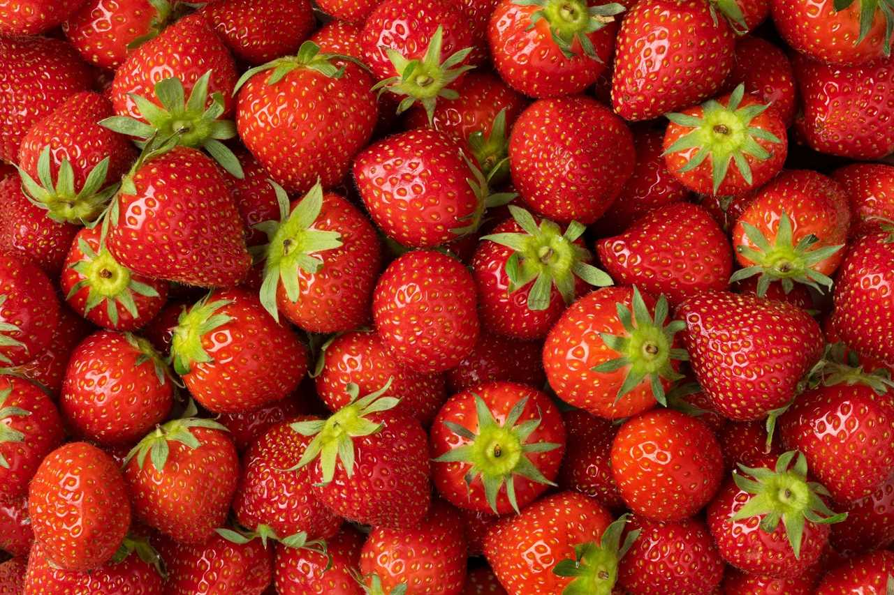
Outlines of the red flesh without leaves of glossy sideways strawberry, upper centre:
[[373,221],[404,246],[438,246],[474,222],[471,172],[446,132],[410,130],[367,147],[354,162],[354,179]]

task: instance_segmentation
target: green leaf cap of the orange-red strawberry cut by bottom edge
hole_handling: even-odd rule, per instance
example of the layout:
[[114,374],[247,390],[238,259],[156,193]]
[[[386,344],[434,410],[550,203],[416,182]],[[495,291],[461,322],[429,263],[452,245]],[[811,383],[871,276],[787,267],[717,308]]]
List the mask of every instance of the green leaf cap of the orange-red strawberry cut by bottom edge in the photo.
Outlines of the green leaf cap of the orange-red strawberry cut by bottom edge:
[[574,557],[561,560],[552,568],[556,576],[574,577],[562,595],[611,595],[618,581],[618,563],[627,554],[640,531],[628,532],[621,543],[630,515],[621,515],[605,528],[599,543],[587,541],[574,546]]

